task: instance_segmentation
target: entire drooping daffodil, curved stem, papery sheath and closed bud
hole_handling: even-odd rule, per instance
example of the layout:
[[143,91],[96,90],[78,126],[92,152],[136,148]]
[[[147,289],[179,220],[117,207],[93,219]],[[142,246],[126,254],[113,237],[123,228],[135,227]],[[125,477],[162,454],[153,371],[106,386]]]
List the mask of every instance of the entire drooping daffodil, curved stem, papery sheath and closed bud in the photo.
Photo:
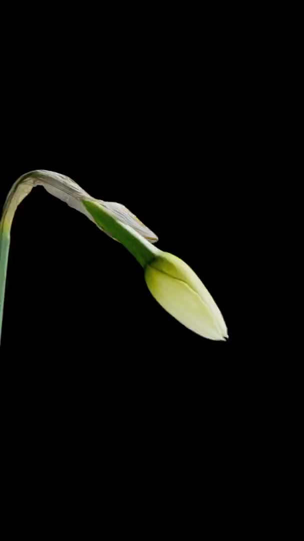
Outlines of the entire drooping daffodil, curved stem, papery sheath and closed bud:
[[145,280],[154,298],[175,319],[202,337],[211,340],[228,337],[219,308],[198,276],[184,261],[154,246],[157,236],[130,210],[119,203],[94,199],[69,177],[37,170],[15,182],[0,221],[0,339],[11,224],[18,204],[38,185],[121,242],[144,268]]

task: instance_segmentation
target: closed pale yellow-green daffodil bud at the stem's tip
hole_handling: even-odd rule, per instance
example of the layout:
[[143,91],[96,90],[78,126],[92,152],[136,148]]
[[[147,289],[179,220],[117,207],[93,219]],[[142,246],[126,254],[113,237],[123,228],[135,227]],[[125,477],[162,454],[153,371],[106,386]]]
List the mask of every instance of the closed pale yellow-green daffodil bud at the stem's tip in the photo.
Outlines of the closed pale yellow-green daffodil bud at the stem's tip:
[[145,280],[153,297],[185,327],[211,340],[228,338],[219,308],[184,261],[161,252],[146,266]]

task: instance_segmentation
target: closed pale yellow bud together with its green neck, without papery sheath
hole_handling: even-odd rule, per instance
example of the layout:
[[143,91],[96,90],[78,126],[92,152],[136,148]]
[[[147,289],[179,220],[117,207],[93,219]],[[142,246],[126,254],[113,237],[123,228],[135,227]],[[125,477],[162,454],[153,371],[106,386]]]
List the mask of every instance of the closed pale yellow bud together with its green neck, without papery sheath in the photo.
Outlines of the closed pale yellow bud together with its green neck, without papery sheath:
[[227,327],[211,294],[192,269],[175,255],[151,245],[131,227],[117,222],[92,201],[85,208],[100,226],[136,257],[154,299],[191,331],[211,340],[228,338]]

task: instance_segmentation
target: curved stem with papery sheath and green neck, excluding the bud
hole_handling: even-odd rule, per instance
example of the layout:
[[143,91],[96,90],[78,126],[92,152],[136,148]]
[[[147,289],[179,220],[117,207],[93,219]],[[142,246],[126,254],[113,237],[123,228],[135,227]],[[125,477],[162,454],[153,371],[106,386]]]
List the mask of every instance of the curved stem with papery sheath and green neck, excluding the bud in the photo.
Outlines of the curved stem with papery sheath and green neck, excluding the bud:
[[12,220],[19,203],[33,187],[39,185],[85,214],[105,233],[122,242],[143,267],[152,261],[159,251],[152,246],[152,242],[158,240],[157,236],[123,205],[94,199],[69,177],[53,171],[35,170],[25,173],[13,184],[6,197],[0,221],[0,343]]

